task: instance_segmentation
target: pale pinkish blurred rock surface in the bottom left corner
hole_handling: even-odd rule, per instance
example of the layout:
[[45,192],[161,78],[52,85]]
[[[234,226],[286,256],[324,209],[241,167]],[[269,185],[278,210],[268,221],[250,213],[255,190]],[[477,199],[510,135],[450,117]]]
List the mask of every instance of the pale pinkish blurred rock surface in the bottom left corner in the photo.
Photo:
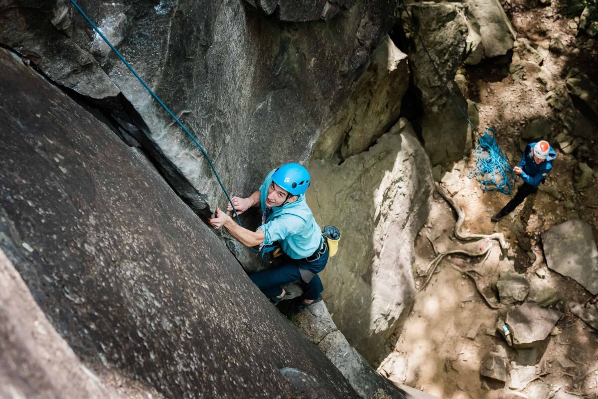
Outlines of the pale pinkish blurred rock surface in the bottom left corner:
[[121,398],[81,364],[2,250],[0,348],[0,398]]

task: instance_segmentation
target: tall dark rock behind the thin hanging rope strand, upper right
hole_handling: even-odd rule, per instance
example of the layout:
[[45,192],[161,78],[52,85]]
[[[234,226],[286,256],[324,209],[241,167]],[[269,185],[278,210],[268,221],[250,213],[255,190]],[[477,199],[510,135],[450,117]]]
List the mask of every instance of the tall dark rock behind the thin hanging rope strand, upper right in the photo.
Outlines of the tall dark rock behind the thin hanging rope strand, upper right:
[[459,66],[478,51],[481,40],[478,28],[472,22],[469,7],[463,4],[424,2],[407,7],[426,47],[434,49],[432,57],[452,93],[451,98],[415,35],[407,13],[403,8],[398,10],[407,37],[413,82],[420,91],[423,106],[422,135],[426,151],[432,165],[457,161],[471,148],[471,126],[454,104],[459,104],[469,115],[469,105],[454,78]]

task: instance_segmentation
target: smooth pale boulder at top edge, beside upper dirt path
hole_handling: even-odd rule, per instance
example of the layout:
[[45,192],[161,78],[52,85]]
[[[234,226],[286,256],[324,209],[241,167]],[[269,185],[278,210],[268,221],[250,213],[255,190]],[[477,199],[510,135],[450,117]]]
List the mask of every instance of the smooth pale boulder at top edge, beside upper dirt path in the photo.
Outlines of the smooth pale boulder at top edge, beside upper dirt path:
[[504,56],[513,48],[517,33],[498,0],[464,0],[477,20],[484,58]]

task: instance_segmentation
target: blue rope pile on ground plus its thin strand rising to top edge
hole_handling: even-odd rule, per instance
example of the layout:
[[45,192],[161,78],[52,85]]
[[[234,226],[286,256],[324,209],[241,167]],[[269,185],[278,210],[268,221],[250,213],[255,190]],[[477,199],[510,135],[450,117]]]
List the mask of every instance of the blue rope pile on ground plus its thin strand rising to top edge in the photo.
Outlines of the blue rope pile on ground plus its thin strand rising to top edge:
[[[480,182],[480,188],[483,191],[498,190],[503,192],[504,194],[509,194],[514,185],[514,182],[511,182],[511,180],[514,180],[515,174],[513,173],[513,169],[509,166],[507,157],[502,152],[498,143],[496,143],[495,130],[491,127],[487,128],[486,133],[484,133],[483,136],[479,136],[477,128],[475,127],[473,122],[469,120],[467,114],[465,113],[465,111],[463,111],[459,103],[457,103],[457,100],[454,98],[454,95],[449,89],[449,86],[446,84],[446,82],[443,79],[443,76],[440,74],[440,71],[438,70],[436,63],[434,62],[434,59],[432,59],[432,56],[429,53],[428,48],[423,42],[422,36],[420,36],[419,31],[416,29],[416,23],[413,17],[411,16],[409,10],[407,10],[407,6],[405,6],[405,3],[403,1],[401,1],[401,5],[408,16],[409,22],[411,23],[411,27],[413,27],[413,32],[415,32],[417,38],[419,39],[419,42],[422,44],[423,51],[425,51],[425,53],[428,55],[428,58],[430,59],[430,62],[432,63],[432,66],[434,67],[434,70],[438,75],[438,79],[440,79],[441,83],[444,86],[444,89],[449,94],[451,101],[454,103],[454,105],[457,106],[459,112],[463,115],[463,118],[465,118],[468,124],[471,125],[472,131],[476,133],[476,135],[478,136],[478,145],[475,148],[475,158],[477,161],[477,166],[471,171],[469,171],[469,179],[472,179],[474,176],[477,177],[478,182]],[[490,134],[488,133],[489,130],[492,130],[492,136],[490,136]]]

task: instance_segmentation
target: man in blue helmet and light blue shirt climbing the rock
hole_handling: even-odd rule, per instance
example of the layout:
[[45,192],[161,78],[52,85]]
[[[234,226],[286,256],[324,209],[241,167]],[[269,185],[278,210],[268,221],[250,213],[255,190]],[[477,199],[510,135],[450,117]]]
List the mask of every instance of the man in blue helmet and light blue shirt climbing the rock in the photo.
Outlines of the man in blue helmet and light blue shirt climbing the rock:
[[[281,286],[293,281],[300,281],[303,287],[300,307],[322,299],[324,287],[318,273],[328,262],[328,245],[305,199],[310,181],[306,168],[285,164],[270,171],[260,189],[248,198],[231,198],[238,214],[261,206],[262,225],[256,231],[239,226],[218,208],[216,217],[209,219],[210,225],[216,229],[224,226],[246,247],[280,245],[285,256],[279,266],[249,275],[273,303],[285,298],[288,293]],[[228,211],[233,211],[231,204]]]

